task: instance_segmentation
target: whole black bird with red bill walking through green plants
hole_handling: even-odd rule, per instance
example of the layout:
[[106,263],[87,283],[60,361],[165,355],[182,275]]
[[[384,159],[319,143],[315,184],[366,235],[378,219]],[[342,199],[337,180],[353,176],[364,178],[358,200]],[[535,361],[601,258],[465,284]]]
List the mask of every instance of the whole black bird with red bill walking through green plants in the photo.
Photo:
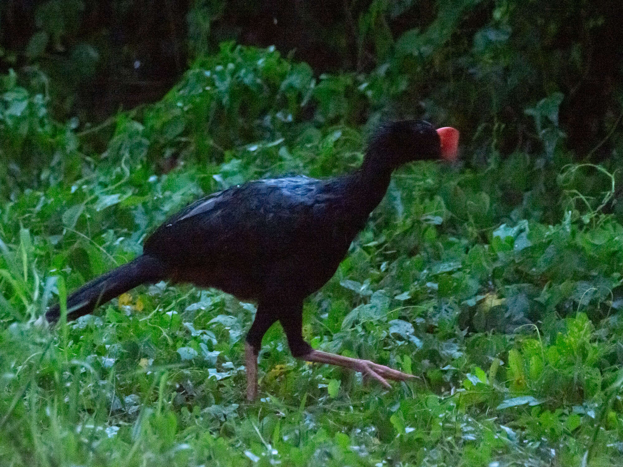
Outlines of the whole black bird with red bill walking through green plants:
[[[169,280],[218,288],[255,301],[245,339],[247,399],[257,397],[262,336],[279,321],[292,356],[361,372],[391,388],[414,377],[371,361],[312,349],[302,336],[303,300],[319,290],[346,257],[354,238],[383,199],[397,167],[457,157],[459,131],[422,120],[380,125],[359,169],[328,179],[259,179],[197,200],[160,225],[129,263],[99,276],[67,298],[76,319],[143,283]],[[60,304],[45,313],[49,323]]]

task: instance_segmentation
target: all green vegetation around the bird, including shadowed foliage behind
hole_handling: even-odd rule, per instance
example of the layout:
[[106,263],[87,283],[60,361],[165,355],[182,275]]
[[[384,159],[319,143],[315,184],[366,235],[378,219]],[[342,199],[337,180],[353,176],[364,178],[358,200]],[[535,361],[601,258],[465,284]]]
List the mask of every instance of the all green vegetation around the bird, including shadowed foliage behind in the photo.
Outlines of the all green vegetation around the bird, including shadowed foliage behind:
[[[150,2],[0,11],[14,29],[31,18],[0,35],[2,465],[621,465],[619,6],[293,3],[163,2],[179,11],[144,14],[150,31],[178,25],[168,49],[111,32]],[[97,20],[110,5],[112,26]],[[133,68],[154,50],[170,52],[166,77]],[[160,91],[104,108],[98,86],[121,69]],[[371,131],[406,116],[458,128],[461,161],[394,173],[305,301],[303,337],[415,382],[298,362],[273,326],[247,403],[255,304],[184,285],[35,325],[187,202],[351,171]]]

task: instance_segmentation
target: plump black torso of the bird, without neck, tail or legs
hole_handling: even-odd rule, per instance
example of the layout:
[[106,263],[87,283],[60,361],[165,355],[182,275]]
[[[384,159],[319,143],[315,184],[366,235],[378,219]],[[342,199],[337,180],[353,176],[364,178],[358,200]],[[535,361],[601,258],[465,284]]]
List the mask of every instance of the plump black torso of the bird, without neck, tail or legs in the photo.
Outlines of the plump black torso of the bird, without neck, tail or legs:
[[241,298],[305,296],[333,275],[363,226],[353,219],[347,190],[346,177],[235,186],[164,222],[144,252],[168,263],[176,280]]

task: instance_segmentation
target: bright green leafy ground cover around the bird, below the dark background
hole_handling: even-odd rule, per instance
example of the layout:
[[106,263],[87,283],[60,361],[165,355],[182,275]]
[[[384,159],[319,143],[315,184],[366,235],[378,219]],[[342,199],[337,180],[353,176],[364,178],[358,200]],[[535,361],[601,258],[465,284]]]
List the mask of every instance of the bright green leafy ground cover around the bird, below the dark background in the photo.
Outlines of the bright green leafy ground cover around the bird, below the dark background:
[[[155,105],[86,127],[51,118],[45,88],[3,76],[2,464],[621,465],[619,159],[571,164],[559,93],[525,110],[541,149],[502,157],[494,134],[486,164],[397,171],[305,303],[314,347],[415,382],[384,390],[295,361],[276,325],[261,399],[247,403],[255,306],[217,290],[141,286],[95,316],[36,325],[201,194],[358,166],[392,80],[316,77],[226,43]],[[481,160],[472,149],[464,159]]]

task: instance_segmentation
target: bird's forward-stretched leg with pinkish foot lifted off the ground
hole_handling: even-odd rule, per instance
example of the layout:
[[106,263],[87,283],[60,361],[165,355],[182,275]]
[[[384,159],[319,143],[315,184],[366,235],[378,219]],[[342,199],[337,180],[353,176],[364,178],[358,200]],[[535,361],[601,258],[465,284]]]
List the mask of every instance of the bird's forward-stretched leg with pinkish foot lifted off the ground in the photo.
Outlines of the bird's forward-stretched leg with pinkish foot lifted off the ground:
[[279,321],[288,337],[290,352],[292,352],[292,355],[297,359],[352,368],[353,370],[363,373],[364,376],[373,377],[386,388],[391,387],[387,382],[388,379],[404,381],[416,378],[414,375],[409,375],[369,360],[353,359],[312,349],[310,344],[303,340],[303,334],[301,332],[302,309],[290,309],[290,313],[282,314]]

